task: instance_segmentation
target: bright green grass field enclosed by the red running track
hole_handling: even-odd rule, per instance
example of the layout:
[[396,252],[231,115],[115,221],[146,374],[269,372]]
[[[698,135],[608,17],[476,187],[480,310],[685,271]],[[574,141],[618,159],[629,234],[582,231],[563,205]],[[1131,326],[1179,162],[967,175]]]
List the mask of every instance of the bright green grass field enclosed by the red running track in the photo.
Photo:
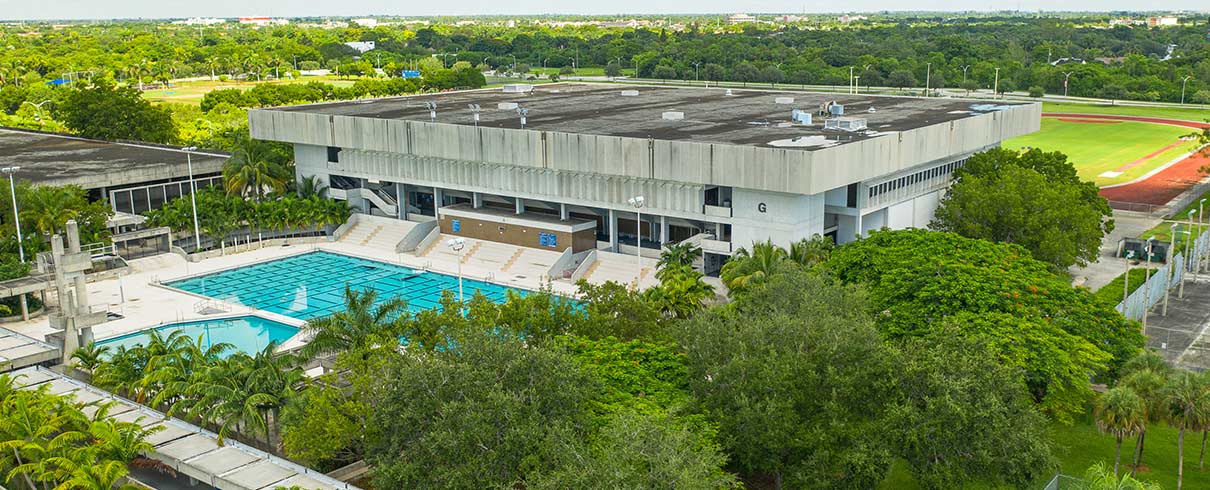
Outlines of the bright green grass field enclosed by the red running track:
[[1118,177],[1099,177],[1101,173],[1116,171],[1177,143],[1180,137],[1188,133],[1187,128],[1146,122],[1089,123],[1045,117],[1042,120],[1042,131],[1006,140],[1003,146],[1014,150],[1030,146],[1062,151],[1074,163],[1081,178],[1093,180],[1096,185],[1110,185],[1142,177],[1156,167],[1193,150],[1195,142],[1183,142],[1139,166],[1123,171]]

